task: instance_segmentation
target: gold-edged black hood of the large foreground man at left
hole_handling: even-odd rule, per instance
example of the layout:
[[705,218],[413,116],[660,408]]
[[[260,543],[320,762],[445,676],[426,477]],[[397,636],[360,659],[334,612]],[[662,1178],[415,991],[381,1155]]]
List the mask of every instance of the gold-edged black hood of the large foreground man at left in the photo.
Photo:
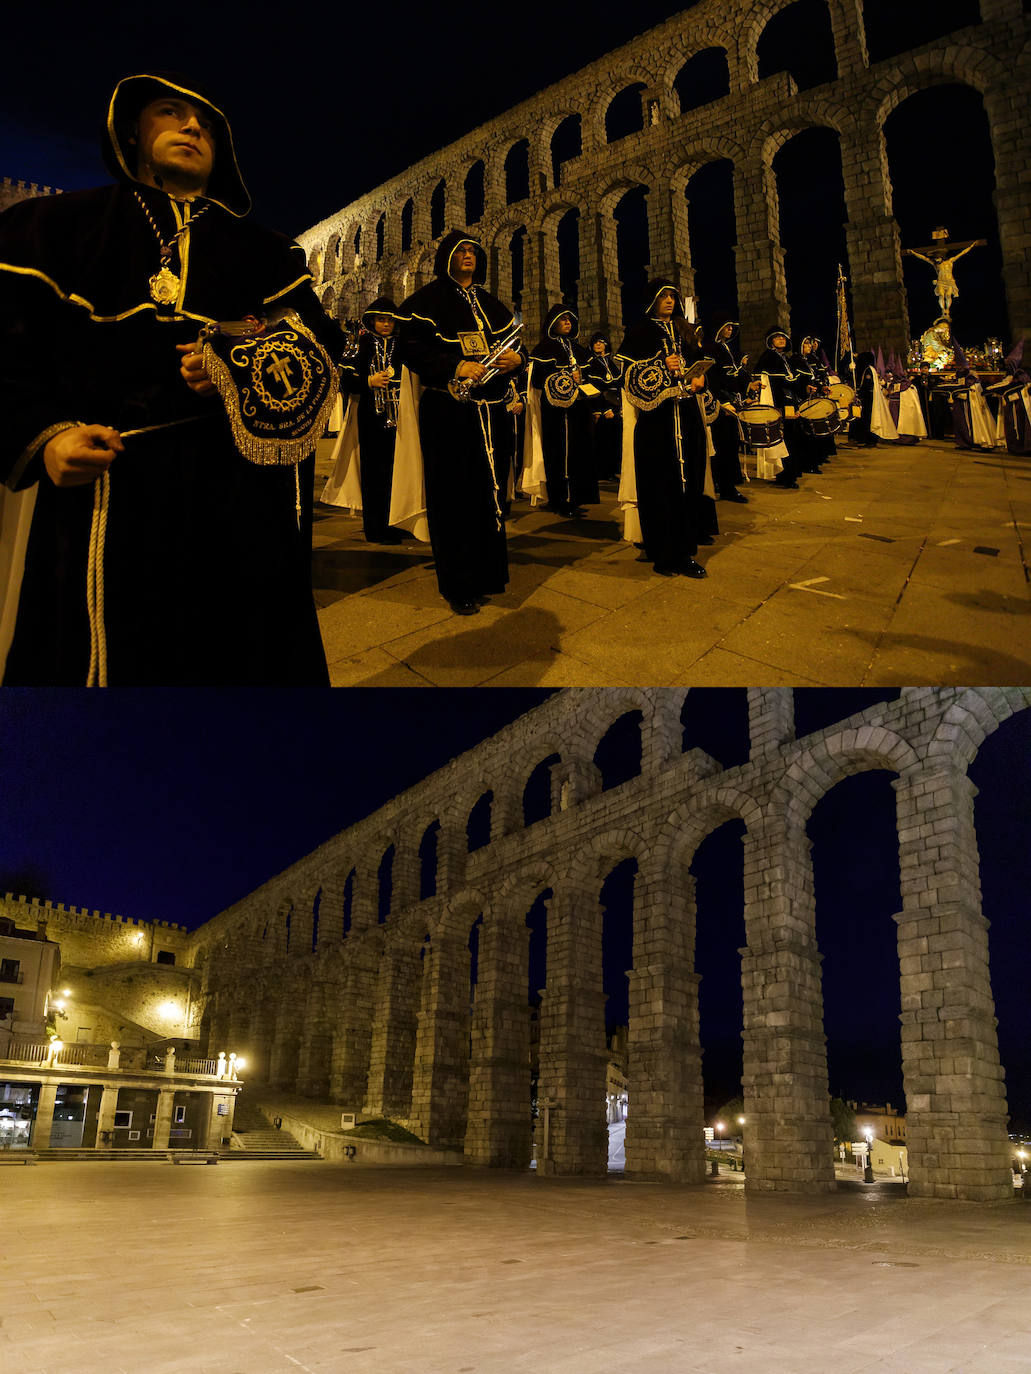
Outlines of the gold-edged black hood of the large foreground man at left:
[[213,201],[236,217],[247,214],[250,192],[243,184],[236,164],[230,121],[195,81],[190,81],[177,71],[122,77],[114,88],[107,106],[102,142],[107,170],[118,181],[129,184],[137,181],[136,148],[129,140],[133,137],[133,126],[139,120],[140,110],[151,100],[161,99],[162,95],[190,100],[191,104],[201,106],[208,111],[214,135],[214,166],[203,198]]

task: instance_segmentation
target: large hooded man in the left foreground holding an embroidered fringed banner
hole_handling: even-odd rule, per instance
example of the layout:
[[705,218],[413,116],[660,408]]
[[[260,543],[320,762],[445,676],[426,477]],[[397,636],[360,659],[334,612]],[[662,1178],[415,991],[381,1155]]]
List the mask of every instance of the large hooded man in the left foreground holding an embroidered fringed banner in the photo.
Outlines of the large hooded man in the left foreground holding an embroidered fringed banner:
[[[296,460],[324,429],[342,337],[297,246],[245,218],[230,125],[194,82],[121,80],[103,153],[113,185],[0,221],[0,475],[23,517],[34,503],[5,682],[326,683],[297,518],[313,460]],[[239,346],[257,359],[256,331],[287,308],[291,338],[324,348],[269,345],[254,363],[258,440],[232,409],[228,361],[216,394],[198,333],[250,335]],[[298,385],[304,365],[318,385]]]

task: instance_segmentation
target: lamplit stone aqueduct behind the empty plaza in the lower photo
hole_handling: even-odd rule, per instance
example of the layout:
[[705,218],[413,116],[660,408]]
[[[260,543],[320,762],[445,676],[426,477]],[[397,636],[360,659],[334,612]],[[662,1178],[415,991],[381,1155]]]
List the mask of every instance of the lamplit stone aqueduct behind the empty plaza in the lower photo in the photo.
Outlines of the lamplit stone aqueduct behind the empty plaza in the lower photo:
[[[400,1120],[476,1164],[526,1167],[526,914],[547,893],[539,1094],[550,1138],[540,1167],[603,1172],[599,892],[632,857],[627,1168],[700,1180],[694,936],[705,912],[696,914],[689,866],[711,831],[740,819],[746,1186],[830,1190],[806,823],[847,775],[887,769],[898,796],[910,1191],[1010,1197],[968,767],[1001,721],[1031,705],[1031,688],[903,688],[803,739],[790,690],[748,688],[749,758],[733,768],[682,752],[683,705],[680,690],[561,692],[199,927],[190,962],[202,982],[202,1036],[246,1054],[250,1074],[283,1090]],[[641,774],[602,790],[595,750],[628,712],[641,713]],[[525,824],[524,789],[542,763],[551,812]],[[470,813],[484,796],[489,840],[469,852]]]

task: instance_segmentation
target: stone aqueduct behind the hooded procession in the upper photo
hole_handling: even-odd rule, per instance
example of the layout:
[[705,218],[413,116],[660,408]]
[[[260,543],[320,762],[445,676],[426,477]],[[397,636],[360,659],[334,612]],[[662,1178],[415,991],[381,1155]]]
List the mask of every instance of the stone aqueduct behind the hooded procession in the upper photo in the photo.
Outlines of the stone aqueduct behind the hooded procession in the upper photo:
[[[481,164],[483,214],[465,227],[488,247],[488,286],[505,300],[513,297],[509,245],[525,228],[526,338],[536,338],[548,304],[561,300],[558,225],[570,210],[579,212],[581,316],[619,330],[613,217],[619,201],[630,188],[646,188],[650,272],[675,279],[694,297],[686,188],[708,164],[730,159],[738,317],[745,348],[755,354],[768,322],[788,316],[773,158],[799,132],[828,128],[836,131],[841,148],[856,338],[862,346],[870,341],[902,346],[910,326],[884,122],[916,92],[962,84],[983,96],[991,131],[1010,331],[1015,338],[1031,334],[1027,5],[980,0],[980,23],[872,63],[863,0],[828,0],[837,80],[797,92],[784,71],[759,80],[756,55],[766,26],[790,3],[702,0],[308,229],[300,242],[323,304],[330,313],[355,317],[377,294],[403,300],[429,280],[439,225],[465,225],[466,177]],[[678,77],[693,56],[704,54],[726,55],[729,93],[682,113]],[[606,143],[606,113],[630,87],[639,87],[643,128]],[[580,120],[581,151],[557,162],[553,140],[569,118]],[[528,135],[529,194],[507,203],[506,158]],[[439,225],[433,224],[434,195]],[[811,328],[808,322],[796,324]]]

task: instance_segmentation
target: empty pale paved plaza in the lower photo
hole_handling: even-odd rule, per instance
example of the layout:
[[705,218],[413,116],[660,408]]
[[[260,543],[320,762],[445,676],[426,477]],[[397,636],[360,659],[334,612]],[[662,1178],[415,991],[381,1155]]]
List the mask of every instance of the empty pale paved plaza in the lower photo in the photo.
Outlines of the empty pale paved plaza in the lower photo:
[[1031,1369],[1031,1204],[324,1162],[7,1167],[4,1374]]

